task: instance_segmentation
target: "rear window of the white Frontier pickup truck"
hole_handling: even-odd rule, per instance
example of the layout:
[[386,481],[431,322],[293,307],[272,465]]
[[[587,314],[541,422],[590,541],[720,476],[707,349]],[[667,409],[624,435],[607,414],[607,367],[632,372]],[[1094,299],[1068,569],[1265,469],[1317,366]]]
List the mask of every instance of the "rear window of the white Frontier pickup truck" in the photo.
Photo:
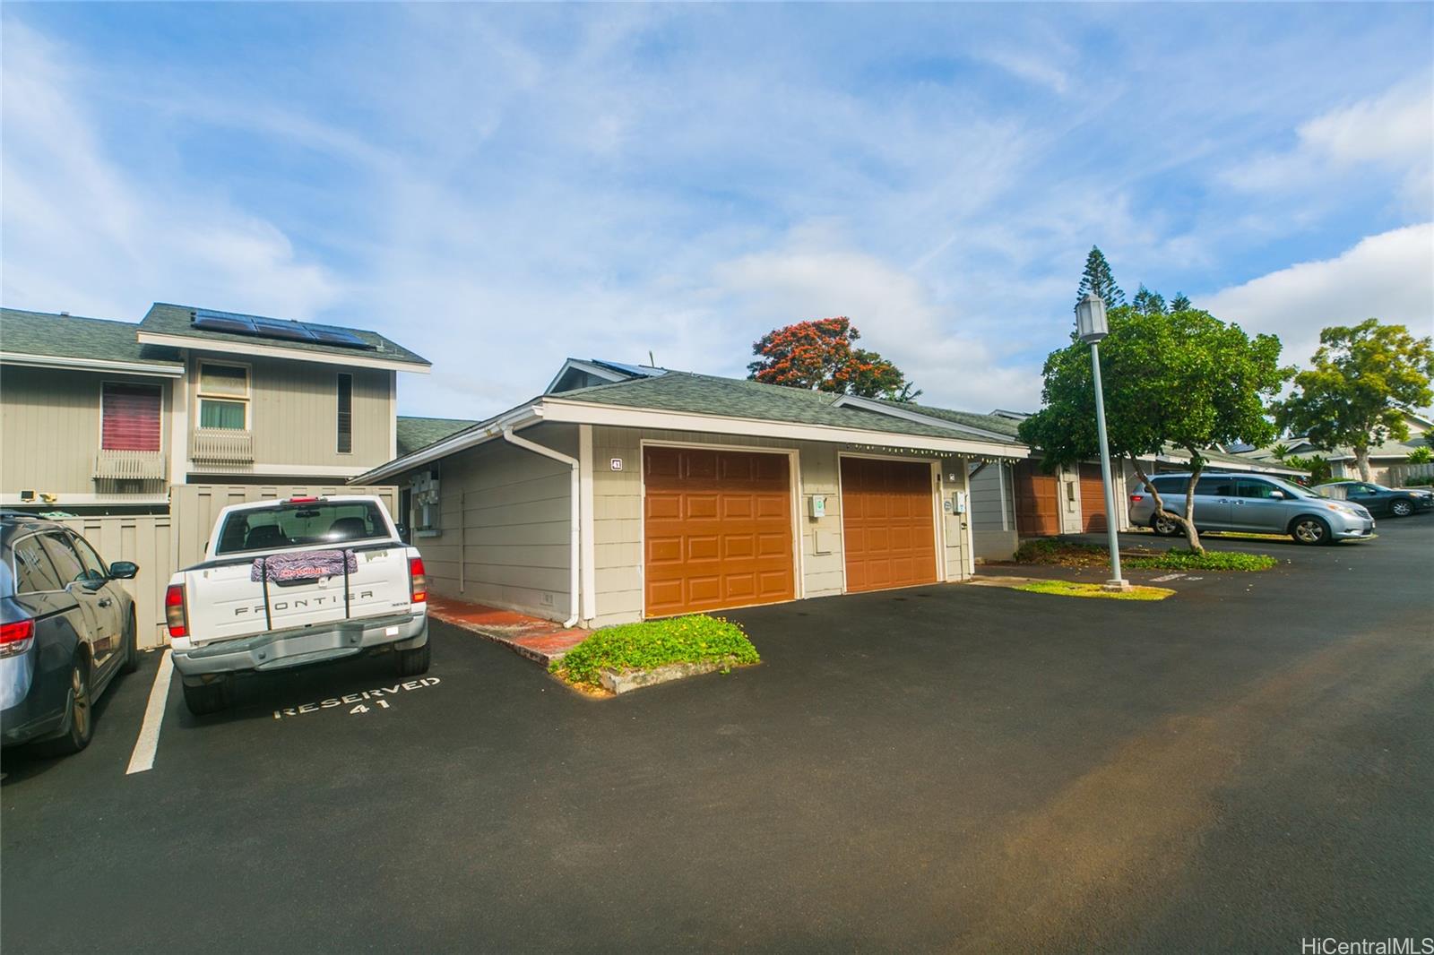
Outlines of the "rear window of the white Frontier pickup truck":
[[215,556],[313,543],[387,541],[389,525],[371,500],[315,500],[235,510],[219,528]]

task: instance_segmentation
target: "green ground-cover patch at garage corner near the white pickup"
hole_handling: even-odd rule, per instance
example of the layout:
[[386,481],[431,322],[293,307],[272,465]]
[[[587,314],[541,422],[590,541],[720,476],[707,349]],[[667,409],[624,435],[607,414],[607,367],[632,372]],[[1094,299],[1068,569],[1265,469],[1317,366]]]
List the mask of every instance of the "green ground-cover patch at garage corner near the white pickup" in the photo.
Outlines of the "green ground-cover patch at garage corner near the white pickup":
[[630,673],[674,662],[718,662],[730,667],[761,662],[741,627],[720,617],[694,614],[641,624],[604,627],[548,665],[568,683],[599,687],[604,670]]

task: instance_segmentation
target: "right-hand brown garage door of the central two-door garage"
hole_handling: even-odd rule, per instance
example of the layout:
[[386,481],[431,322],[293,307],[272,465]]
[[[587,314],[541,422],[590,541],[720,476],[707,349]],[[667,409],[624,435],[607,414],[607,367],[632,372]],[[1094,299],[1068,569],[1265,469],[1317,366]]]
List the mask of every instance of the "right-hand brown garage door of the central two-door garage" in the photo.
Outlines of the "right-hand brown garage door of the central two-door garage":
[[842,459],[847,591],[936,581],[932,495],[925,462]]

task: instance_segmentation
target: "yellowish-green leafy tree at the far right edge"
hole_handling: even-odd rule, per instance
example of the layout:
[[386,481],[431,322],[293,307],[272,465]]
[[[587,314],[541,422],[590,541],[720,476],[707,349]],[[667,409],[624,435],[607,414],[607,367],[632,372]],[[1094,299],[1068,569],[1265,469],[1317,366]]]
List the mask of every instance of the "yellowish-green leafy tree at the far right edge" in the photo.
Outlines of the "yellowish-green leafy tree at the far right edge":
[[1434,400],[1434,347],[1404,326],[1368,318],[1319,333],[1312,367],[1295,374],[1295,387],[1276,409],[1276,422],[1319,447],[1354,449],[1359,478],[1371,480],[1369,449],[1407,440],[1405,412]]

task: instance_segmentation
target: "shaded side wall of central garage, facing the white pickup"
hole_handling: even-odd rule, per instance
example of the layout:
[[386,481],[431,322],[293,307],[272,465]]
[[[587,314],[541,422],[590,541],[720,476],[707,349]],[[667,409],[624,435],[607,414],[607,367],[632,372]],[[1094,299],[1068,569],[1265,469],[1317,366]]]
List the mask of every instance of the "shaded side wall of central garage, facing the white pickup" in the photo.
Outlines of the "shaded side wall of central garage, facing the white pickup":
[[[522,437],[576,456],[578,429],[538,424]],[[429,588],[442,597],[505,607],[551,619],[571,609],[572,469],[490,440],[439,465],[436,536],[413,543]]]

